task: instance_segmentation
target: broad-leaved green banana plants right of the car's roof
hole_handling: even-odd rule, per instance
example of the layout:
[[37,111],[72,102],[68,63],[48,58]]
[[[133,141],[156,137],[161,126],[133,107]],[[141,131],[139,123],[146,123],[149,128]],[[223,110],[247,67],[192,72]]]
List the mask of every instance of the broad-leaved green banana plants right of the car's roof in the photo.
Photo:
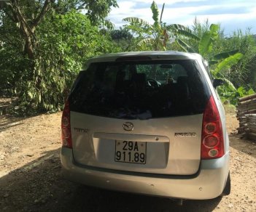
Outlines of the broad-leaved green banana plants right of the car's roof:
[[236,104],[237,97],[252,93],[251,85],[243,82],[243,78],[247,76],[247,62],[250,61],[255,67],[255,62],[252,62],[252,58],[255,58],[255,42],[252,41],[252,36],[242,36],[241,33],[238,36],[234,33],[233,37],[225,38],[220,25],[210,25],[208,20],[201,24],[196,19],[193,33],[200,40],[189,39],[181,46],[187,52],[198,49],[196,52],[209,60],[212,76],[225,81],[225,85],[217,89],[220,97]]

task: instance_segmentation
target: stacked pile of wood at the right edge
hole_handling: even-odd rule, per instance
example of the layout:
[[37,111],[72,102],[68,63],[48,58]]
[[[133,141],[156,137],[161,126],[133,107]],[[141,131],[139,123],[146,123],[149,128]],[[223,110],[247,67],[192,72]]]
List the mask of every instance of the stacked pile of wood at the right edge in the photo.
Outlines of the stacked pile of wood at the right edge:
[[256,94],[238,99],[238,134],[256,141]]

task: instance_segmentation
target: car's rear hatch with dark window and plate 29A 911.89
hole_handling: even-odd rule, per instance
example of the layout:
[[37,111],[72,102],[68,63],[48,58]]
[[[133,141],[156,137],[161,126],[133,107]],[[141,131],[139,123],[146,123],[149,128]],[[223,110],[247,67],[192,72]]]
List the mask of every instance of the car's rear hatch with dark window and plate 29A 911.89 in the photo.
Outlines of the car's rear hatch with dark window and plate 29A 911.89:
[[69,97],[74,160],[120,171],[195,174],[208,90],[195,60],[90,65]]

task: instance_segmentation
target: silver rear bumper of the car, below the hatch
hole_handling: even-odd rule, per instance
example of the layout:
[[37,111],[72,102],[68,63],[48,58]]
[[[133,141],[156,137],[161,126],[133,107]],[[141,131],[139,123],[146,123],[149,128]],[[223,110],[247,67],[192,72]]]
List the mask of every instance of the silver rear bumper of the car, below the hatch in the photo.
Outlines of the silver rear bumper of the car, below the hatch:
[[202,160],[195,176],[139,174],[103,168],[79,166],[72,150],[61,149],[61,163],[66,179],[93,187],[144,195],[206,200],[219,196],[225,187],[229,154],[214,160]]

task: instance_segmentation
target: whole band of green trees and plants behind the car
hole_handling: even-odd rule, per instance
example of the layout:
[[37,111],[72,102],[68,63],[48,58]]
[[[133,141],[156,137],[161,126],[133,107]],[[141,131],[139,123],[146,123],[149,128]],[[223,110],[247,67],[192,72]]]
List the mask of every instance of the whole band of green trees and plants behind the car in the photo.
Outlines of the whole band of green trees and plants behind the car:
[[198,52],[209,60],[214,78],[225,81],[217,88],[223,101],[236,104],[238,97],[256,90],[256,41],[249,30],[228,37],[208,20],[201,24],[195,19],[191,30],[167,25],[162,22],[164,4],[159,12],[155,1],[153,24],[127,17],[125,28],[113,30],[104,20],[111,7],[118,7],[116,0],[24,0],[0,11],[0,89],[18,97],[19,113],[61,110],[82,64],[105,52]]

